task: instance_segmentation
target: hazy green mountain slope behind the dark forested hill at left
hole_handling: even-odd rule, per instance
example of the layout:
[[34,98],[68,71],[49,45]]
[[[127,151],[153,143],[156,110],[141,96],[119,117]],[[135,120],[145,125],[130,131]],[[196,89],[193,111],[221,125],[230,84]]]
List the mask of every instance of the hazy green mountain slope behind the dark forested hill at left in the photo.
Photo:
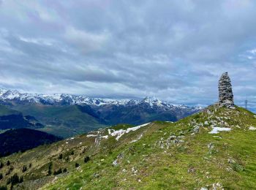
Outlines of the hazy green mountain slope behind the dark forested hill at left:
[[42,131],[61,137],[71,137],[76,134],[99,129],[104,125],[97,118],[81,112],[76,105],[20,105],[15,106],[24,115],[33,115],[46,126]]

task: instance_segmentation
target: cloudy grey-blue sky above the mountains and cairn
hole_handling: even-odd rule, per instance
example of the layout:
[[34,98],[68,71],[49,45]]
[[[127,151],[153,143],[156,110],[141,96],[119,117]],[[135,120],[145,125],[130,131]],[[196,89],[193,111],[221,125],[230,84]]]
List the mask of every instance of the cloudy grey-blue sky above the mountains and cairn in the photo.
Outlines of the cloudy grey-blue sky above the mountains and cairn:
[[[0,88],[256,108],[256,1],[0,0]],[[255,103],[254,103],[255,102]]]

